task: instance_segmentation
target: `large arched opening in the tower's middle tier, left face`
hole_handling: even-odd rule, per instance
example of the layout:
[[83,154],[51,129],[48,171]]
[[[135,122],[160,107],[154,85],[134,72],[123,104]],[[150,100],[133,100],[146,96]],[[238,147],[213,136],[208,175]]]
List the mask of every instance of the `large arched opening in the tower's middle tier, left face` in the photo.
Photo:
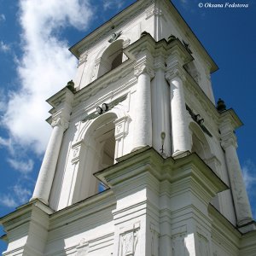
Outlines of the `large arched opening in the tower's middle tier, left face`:
[[105,189],[93,175],[114,164],[115,159],[115,113],[105,113],[98,117],[84,136],[84,150],[79,162],[72,203],[96,195]]

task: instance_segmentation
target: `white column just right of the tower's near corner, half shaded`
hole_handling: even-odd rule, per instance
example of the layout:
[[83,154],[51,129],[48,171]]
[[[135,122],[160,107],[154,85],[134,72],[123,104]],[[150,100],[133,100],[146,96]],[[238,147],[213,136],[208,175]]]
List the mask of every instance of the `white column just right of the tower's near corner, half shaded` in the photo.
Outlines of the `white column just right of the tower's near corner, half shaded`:
[[183,92],[183,73],[174,68],[166,73],[170,84],[171,121],[172,121],[172,156],[190,151],[189,125]]

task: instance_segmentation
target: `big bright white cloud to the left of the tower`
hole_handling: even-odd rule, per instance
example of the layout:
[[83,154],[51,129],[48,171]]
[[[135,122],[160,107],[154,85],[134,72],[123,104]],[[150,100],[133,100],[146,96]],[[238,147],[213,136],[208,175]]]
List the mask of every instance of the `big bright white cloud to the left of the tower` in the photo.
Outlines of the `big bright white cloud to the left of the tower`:
[[9,93],[1,120],[13,143],[31,146],[38,154],[44,151],[50,133],[45,100],[73,79],[77,64],[58,32],[67,26],[86,29],[91,16],[89,0],[20,1],[20,90]]

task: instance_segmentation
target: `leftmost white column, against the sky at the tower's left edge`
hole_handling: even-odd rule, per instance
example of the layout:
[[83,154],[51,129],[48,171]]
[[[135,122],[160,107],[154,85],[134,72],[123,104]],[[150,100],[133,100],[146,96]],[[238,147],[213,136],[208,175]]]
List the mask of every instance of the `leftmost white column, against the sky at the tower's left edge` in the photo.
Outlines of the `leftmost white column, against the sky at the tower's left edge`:
[[44,160],[31,199],[32,201],[33,199],[38,198],[47,205],[49,201],[49,192],[55,176],[55,168],[61,148],[63,133],[67,129],[68,122],[61,117],[55,117],[51,125],[53,126],[53,131],[49,138],[49,143],[44,154]]

